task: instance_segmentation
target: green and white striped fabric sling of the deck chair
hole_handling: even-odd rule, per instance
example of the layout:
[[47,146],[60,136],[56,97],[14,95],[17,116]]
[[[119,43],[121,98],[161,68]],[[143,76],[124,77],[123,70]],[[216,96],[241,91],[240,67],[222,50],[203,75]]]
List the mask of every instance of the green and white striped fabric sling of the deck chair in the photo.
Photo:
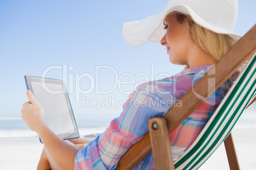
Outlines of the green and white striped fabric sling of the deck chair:
[[238,78],[229,89],[197,139],[178,160],[176,169],[198,169],[227,138],[240,115],[256,97],[256,57],[243,65]]

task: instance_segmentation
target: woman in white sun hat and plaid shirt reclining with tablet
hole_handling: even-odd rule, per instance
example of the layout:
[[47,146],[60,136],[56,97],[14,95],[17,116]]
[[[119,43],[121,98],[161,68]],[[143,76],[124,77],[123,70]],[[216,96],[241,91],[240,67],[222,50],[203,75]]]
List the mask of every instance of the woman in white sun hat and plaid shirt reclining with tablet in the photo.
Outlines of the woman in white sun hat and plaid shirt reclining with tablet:
[[[115,169],[118,160],[148,131],[148,120],[182,107],[179,98],[227,52],[239,36],[232,34],[237,1],[169,1],[164,11],[125,23],[123,36],[134,46],[148,40],[166,46],[169,61],[187,67],[178,75],[141,84],[124,104],[122,114],[93,141],[60,140],[43,121],[43,108],[30,91],[22,119],[36,131],[45,148],[38,169]],[[234,77],[233,77],[234,78]],[[234,79],[226,81],[169,134],[173,159],[192,144],[224,98]],[[154,169],[148,154],[134,169]]]

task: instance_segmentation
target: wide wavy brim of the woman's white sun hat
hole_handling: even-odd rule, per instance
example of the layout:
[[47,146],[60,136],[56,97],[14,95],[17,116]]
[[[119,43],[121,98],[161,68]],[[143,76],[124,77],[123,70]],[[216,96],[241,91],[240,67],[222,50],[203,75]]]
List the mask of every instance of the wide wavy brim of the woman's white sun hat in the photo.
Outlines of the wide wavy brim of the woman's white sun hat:
[[194,10],[187,5],[175,5],[168,10],[164,10],[156,15],[149,16],[144,20],[124,23],[122,35],[125,41],[129,42],[129,44],[132,46],[142,46],[148,41],[160,43],[160,40],[164,34],[166,34],[163,24],[164,18],[166,18],[166,16],[173,11],[190,15],[194,22],[201,27],[218,34],[227,34],[235,41],[238,41],[242,37],[238,34],[227,32],[220,27],[216,27],[213,23],[206,22],[206,20],[197,15],[197,13],[195,13]]

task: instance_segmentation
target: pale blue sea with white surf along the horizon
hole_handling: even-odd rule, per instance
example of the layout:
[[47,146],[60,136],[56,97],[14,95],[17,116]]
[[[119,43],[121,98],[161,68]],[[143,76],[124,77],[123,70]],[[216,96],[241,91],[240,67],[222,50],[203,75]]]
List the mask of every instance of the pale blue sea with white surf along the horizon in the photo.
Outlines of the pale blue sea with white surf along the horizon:
[[[76,124],[80,137],[96,138],[103,133],[115,117],[94,114],[76,117]],[[234,129],[255,129],[256,131],[256,104],[253,103],[239,118]],[[8,140],[39,140],[38,134],[31,131],[20,116],[0,115],[0,141]]]

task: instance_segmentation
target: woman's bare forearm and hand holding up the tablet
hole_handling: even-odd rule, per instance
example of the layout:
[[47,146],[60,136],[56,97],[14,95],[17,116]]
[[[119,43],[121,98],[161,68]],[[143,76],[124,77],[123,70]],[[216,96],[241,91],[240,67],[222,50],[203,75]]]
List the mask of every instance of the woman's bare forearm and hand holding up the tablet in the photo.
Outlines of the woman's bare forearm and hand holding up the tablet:
[[48,153],[60,169],[74,169],[76,153],[85,144],[69,145],[49,129],[43,121],[43,107],[36,101],[31,91],[27,91],[29,101],[22,105],[22,119],[32,131],[36,131]]

